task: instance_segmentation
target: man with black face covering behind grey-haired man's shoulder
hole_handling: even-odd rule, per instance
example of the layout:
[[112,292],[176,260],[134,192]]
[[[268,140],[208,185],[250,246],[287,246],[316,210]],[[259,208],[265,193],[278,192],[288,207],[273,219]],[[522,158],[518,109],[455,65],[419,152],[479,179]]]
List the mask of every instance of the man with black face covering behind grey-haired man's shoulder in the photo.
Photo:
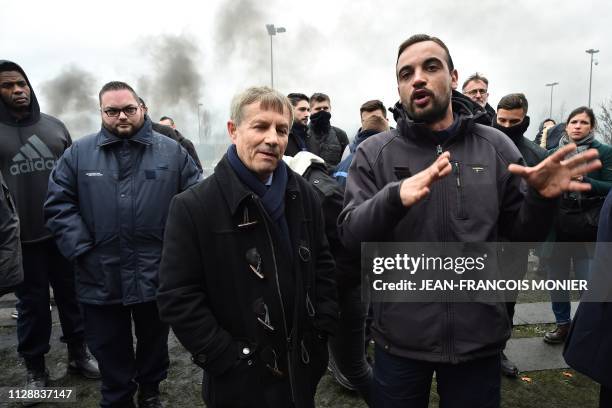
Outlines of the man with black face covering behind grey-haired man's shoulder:
[[332,126],[331,102],[329,96],[315,93],[310,97],[310,125],[308,128],[309,151],[325,160],[328,166],[335,166],[342,159],[342,152],[348,145],[346,132]]

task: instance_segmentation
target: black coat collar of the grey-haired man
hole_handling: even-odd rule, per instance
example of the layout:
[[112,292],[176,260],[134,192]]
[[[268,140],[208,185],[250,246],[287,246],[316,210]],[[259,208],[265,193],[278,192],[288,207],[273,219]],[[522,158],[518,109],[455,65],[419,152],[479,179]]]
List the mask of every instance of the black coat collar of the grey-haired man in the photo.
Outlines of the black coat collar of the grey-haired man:
[[[296,180],[296,176],[293,174],[293,171],[288,170],[288,179],[287,179],[287,190],[285,194],[288,193],[298,193],[299,187]],[[223,155],[223,158],[219,161],[217,166],[215,167],[215,177],[219,183],[219,188],[221,193],[225,197],[227,201],[230,211],[232,214],[236,214],[236,211],[240,208],[240,205],[244,200],[253,196],[255,193],[251,191],[248,187],[246,187],[242,181],[238,178],[238,175],[232,169],[232,166],[229,163],[229,159],[227,158],[227,153]]]

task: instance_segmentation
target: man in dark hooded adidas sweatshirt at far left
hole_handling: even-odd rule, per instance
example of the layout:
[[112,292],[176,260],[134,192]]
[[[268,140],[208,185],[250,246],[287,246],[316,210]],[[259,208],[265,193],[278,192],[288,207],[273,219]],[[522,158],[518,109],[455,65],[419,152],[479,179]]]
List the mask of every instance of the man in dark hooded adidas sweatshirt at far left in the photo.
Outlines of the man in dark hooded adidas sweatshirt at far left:
[[59,312],[61,340],[68,345],[68,369],[99,378],[97,363],[85,348],[72,266],[59,253],[43,219],[49,173],[72,140],[62,122],[40,112],[23,69],[5,60],[0,60],[0,138],[0,171],[21,225],[24,280],[15,292],[17,350],[25,360],[27,387],[45,387],[48,381],[49,284]]

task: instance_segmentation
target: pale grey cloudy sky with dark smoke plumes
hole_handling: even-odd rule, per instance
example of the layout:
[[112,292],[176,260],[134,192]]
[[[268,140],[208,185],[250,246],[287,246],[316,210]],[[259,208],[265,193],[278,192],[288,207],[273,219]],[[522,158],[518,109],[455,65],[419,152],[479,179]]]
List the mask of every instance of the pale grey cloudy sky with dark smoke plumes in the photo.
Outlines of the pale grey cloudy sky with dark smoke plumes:
[[[446,42],[460,84],[475,71],[485,74],[493,106],[507,93],[524,92],[529,137],[548,116],[545,83],[560,83],[555,119],[587,103],[587,48],[601,50],[592,105],[612,97],[612,50],[606,49],[612,5],[605,1],[0,3],[0,57],[23,66],[43,111],[65,120],[75,137],[99,127],[97,91],[117,79],[137,88],[153,119],[175,116],[194,142],[201,103],[212,137],[225,141],[232,95],[269,84],[266,23],[287,29],[274,37],[276,87],[329,94],[332,123],[350,136],[359,126],[361,103],[397,101],[397,46],[419,32]],[[84,78],[74,80],[78,91],[71,92],[64,76],[75,73]]]

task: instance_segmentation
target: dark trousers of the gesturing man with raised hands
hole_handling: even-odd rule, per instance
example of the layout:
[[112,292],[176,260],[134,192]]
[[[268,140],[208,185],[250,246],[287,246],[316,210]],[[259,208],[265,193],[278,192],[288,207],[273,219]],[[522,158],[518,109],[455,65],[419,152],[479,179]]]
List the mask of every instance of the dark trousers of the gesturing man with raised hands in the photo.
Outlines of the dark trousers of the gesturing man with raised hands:
[[429,363],[394,356],[378,345],[374,364],[374,406],[427,408],[434,371],[440,408],[500,406],[499,354],[460,364]]

